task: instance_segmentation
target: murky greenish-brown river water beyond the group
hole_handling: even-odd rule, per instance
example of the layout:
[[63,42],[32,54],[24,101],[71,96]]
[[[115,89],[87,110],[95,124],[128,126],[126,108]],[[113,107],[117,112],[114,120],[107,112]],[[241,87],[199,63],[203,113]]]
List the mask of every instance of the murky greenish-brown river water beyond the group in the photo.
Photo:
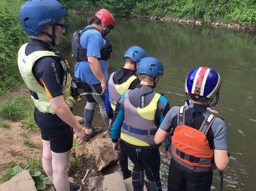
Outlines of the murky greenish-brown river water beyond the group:
[[[73,32],[87,23],[87,16],[74,14],[67,20],[69,32],[61,44],[66,56],[70,55]],[[163,93],[171,106],[184,104],[184,79],[190,70],[208,66],[220,73],[220,101],[215,109],[227,125],[231,154],[224,190],[256,190],[255,32],[128,18],[116,18],[115,23],[108,35],[114,48],[109,73],[123,66],[122,55],[128,47],[143,47],[164,64],[156,91]],[[79,105],[76,113],[83,116],[84,103]],[[168,165],[169,160],[162,157],[164,190]],[[214,172],[212,190],[220,190],[218,172]]]

